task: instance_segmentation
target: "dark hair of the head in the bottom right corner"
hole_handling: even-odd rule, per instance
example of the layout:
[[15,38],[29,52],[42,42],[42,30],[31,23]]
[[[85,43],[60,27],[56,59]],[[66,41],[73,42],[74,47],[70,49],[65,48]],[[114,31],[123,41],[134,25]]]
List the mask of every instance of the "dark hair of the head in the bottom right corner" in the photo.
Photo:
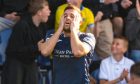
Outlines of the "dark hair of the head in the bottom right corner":
[[130,73],[140,77],[140,62],[137,62],[131,66]]

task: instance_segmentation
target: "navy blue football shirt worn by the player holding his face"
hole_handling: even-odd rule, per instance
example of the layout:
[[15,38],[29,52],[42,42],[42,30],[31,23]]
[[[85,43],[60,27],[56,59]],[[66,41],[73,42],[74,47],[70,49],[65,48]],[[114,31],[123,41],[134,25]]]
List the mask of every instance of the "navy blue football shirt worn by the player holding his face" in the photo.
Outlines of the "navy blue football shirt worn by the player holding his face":
[[[47,34],[46,41],[53,34]],[[89,84],[89,58],[95,47],[95,38],[92,34],[79,33],[81,41],[87,43],[90,52],[87,56],[74,57],[70,37],[62,33],[53,51],[53,84]]]

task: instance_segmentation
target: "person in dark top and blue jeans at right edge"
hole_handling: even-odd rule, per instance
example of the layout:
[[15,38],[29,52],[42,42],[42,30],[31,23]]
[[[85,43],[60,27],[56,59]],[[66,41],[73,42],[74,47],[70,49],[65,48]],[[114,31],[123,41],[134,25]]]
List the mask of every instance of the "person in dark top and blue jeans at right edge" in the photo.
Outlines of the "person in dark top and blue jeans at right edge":
[[137,0],[136,8],[131,9],[130,12],[128,13],[128,16],[126,18],[126,27],[125,27],[125,36],[128,38],[130,43],[128,56],[135,62],[140,62],[139,11],[140,11],[139,0]]

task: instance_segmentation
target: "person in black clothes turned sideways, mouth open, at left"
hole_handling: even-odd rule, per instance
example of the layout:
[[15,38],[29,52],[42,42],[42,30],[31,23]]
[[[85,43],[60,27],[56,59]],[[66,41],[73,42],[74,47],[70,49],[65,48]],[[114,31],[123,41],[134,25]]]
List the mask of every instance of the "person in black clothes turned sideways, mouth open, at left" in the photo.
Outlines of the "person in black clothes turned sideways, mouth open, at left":
[[38,84],[35,58],[40,54],[37,42],[45,37],[45,22],[50,10],[46,0],[32,0],[31,16],[21,18],[13,27],[6,49],[2,84]]

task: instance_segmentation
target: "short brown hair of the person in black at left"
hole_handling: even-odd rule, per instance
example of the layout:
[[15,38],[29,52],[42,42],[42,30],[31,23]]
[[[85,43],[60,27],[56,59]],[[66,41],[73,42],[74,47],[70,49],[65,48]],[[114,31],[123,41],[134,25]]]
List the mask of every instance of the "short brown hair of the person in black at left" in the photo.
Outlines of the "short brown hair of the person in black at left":
[[43,9],[44,6],[48,6],[47,0],[31,0],[29,3],[29,12],[35,15],[39,10]]

